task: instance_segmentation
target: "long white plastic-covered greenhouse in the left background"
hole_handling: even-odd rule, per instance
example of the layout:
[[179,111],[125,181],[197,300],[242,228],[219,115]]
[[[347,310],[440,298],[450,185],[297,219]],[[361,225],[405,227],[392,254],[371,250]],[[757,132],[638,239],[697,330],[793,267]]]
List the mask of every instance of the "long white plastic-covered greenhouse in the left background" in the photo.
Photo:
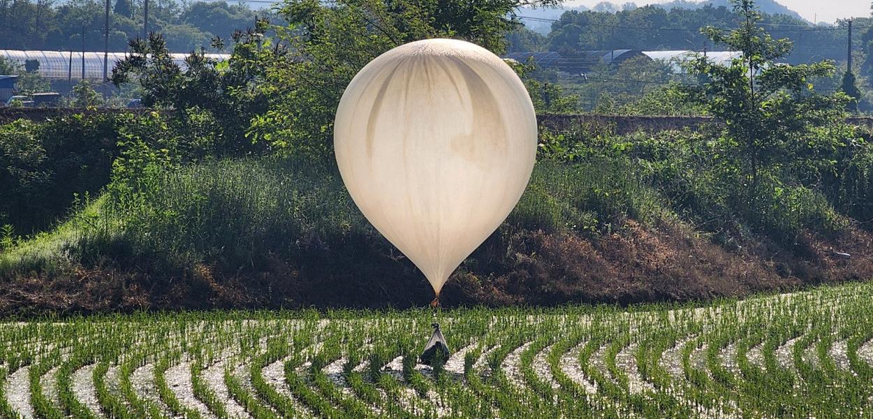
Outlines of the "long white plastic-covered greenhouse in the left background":
[[[82,79],[82,54],[83,52],[69,51],[17,51],[0,50],[0,57],[9,59],[11,62],[24,68],[24,62],[36,59],[39,62],[37,72],[47,79]],[[103,52],[84,52],[85,54],[85,79],[103,79]],[[184,60],[189,54],[170,54],[173,61],[185,68]],[[127,52],[109,52],[107,55],[107,72],[111,75],[115,63],[127,56]],[[206,54],[209,58],[219,61],[227,59],[230,54]]]

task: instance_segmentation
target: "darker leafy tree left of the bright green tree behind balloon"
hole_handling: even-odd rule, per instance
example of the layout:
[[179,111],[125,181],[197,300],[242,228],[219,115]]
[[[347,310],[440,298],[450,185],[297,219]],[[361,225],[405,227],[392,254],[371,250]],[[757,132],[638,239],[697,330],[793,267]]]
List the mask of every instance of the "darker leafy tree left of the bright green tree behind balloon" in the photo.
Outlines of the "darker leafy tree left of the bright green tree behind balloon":
[[[130,52],[115,65],[111,80],[116,86],[135,80],[144,106],[168,108],[182,124],[210,138],[214,154],[259,153],[265,144],[245,141],[249,121],[266,112],[256,85],[265,79],[265,63],[285,55],[284,48],[262,42],[266,29],[267,22],[259,20],[254,29],[237,31],[232,37],[234,53],[225,62],[192,52],[184,70],[173,62],[162,35],[152,33],[148,41],[130,42]],[[222,46],[218,39],[216,46]]]

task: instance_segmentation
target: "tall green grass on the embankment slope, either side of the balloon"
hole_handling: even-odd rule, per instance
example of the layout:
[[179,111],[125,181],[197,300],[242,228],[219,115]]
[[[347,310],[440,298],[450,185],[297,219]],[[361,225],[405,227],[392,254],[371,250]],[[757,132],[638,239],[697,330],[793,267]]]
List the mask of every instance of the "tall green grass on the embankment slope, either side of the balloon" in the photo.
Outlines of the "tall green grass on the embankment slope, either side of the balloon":
[[[660,211],[656,191],[626,161],[545,161],[504,228],[595,233],[618,229],[629,217],[653,220]],[[333,164],[207,161],[113,182],[52,233],[0,254],[0,277],[106,258],[146,257],[175,268],[215,260],[258,266],[347,237],[382,240]]]

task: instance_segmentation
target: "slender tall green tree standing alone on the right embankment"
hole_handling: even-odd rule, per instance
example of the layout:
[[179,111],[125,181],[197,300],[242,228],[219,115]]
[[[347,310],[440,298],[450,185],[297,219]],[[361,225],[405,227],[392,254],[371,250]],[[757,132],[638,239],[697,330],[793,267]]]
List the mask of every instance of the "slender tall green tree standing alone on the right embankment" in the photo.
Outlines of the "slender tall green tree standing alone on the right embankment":
[[[743,52],[732,65],[715,65],[704,57],[689,66],[704,75],[703,86],[686,87],[689,100],[725,122],[725,170],[736,171],[746,194],[741,199],[750,214],[760,210],[764,175],[791,165],[827,164],[821,149],[835,147],[835,139],[816,127],[839,125],[848,97],[843,93],[815,93],[810,79],[835,72],[831,62],[777,65],[792,48],[787,39],[773,39],[758,24],[761,15],[753,0],[732,0],[741,18],[739,28],[725,32],[703,30],[712,42]],[[815,140],[813,140],[815,138]],[[810,149],[815,148],[815,150]]]

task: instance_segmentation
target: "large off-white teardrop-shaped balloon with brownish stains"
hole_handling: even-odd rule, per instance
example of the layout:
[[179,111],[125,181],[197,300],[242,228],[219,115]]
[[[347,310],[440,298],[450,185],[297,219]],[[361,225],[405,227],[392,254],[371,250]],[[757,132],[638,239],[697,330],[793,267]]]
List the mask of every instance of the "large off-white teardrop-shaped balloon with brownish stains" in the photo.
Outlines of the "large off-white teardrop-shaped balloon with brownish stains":
[[385,52],[354,76],[333,144],[354,203],[439,296],[519,201],[537,122],[525,86],[498,56],[428,39]]

